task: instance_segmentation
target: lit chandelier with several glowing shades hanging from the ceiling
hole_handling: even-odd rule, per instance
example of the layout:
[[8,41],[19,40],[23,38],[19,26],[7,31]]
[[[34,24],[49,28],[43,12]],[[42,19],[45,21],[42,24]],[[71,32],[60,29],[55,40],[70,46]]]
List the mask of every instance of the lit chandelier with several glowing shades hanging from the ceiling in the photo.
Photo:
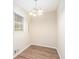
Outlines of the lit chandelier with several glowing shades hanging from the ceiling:
[[33,9],[29,12],[29,15],[31,15],[31,16],[40,16],[40,15],[43,15],[43,10],[42,10],[41,8],[38,8],[38,6],[37,6],[37,1],[38,1],[38,0],[34,0],[35,6],[34,6]]

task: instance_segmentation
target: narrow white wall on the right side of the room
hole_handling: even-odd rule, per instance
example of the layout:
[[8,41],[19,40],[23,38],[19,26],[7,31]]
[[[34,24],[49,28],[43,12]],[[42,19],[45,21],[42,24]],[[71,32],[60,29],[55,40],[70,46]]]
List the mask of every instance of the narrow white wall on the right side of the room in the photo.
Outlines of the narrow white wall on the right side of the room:
[[64,0],[60,0],[60,4],[57,10],[58,16],[58,42],[57,50],[60,55],[60,59],[65,59],[65,19],[64,19]]

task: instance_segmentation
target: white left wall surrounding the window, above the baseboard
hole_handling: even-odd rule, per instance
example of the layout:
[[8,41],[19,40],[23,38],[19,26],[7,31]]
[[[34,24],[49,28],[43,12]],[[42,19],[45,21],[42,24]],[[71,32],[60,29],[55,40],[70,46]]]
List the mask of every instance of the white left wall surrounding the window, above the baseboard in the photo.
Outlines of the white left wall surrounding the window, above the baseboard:
[[[24,17],[24,30],[23,31],[14,31],[14,39],[13,39],[13,50],[19,49],[17,54],[24,50],[31,45],[31,40],[29,39],[28,35],[28,16],[23,8],[19,7],[18,5],[14,4],[14,13],[17,13]],[[16,56],[17,54],[14,54]]]

